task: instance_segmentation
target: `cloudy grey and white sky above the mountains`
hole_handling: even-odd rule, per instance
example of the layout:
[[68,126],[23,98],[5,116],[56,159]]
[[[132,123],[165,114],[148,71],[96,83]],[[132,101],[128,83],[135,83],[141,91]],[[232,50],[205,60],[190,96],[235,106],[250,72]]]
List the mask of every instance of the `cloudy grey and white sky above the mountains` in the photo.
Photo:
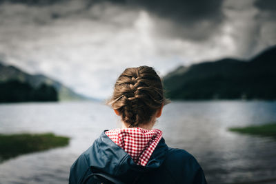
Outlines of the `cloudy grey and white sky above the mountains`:
[[106,99],[128,67],[249,59],[275,18],[275,0],[0,0],[0,60]]

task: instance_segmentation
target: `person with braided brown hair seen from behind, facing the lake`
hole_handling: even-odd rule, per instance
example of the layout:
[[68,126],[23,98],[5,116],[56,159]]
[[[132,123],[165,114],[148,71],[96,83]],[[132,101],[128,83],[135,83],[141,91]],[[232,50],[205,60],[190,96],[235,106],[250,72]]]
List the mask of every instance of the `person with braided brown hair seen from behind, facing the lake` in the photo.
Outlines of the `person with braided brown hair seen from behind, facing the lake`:
[[79,156],[69,183],[206,183],[195,157],[168,147],[161,130],[153,128],[168,102],[153,68],[126,68],[108,101],[122,127],[104,130]]

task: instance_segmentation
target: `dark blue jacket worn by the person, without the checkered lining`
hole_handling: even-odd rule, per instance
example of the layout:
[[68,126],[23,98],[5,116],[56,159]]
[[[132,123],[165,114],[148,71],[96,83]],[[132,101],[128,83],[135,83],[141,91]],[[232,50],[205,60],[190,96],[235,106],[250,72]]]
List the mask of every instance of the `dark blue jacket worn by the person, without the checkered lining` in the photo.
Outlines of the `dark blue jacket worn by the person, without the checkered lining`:
[[[105,132],[105,131],[104,131]],[[81,183],[92,172],[105,172],[124,183],[206,183],[193,155],[170,148],[162,138],[147,165],[137,165],[121,147],[102,133],[70,169],[69,183]]]

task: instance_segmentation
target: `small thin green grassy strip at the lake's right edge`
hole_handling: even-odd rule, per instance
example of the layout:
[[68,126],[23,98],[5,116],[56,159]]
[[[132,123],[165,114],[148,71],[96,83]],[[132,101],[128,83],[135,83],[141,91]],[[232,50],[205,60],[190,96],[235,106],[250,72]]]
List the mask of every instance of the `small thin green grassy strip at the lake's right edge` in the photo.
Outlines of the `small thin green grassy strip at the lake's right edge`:
[[259,136],[273,136],[276,138],[276,122],[268,123],[265,125],[256,125],[248,127],[231,127],[229,128],[232,132],[239,132],[242,134],[252,134]]

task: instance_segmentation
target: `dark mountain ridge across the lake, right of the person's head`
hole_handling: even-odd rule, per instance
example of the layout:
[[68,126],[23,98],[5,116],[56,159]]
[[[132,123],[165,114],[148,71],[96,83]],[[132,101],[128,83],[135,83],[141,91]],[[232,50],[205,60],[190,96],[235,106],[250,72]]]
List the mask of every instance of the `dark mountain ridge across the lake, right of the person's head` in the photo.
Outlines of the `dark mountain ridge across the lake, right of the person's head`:
[[276,45],[253,59],[180,66],[163,78],[170,99],[276,99]]

